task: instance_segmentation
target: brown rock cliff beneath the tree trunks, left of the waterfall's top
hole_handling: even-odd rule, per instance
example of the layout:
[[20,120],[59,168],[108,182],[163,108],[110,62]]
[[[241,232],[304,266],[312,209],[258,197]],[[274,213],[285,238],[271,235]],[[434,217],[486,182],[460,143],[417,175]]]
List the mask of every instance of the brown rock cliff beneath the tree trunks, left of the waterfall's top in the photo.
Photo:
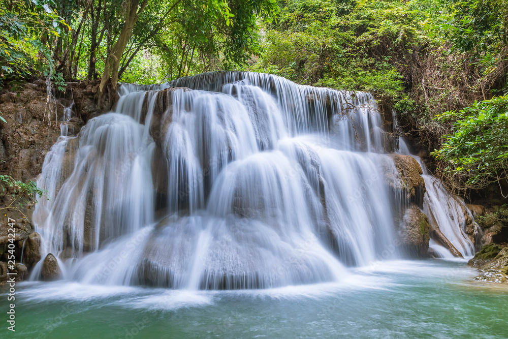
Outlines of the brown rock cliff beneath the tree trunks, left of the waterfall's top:
[[[16,88],[3,88],[0,94],[0,173],[16,180],[34,179],[42,171],[44,157],[60,136],[63,111],[71,106],[69,135],[76,135],[94,116],[110,110],[117,94],[110,91],[97,104],[98,81],[70,82],[65,93],[50,93],[46,82],[37,80]],[[49,98],[49,99],[48,99]]]

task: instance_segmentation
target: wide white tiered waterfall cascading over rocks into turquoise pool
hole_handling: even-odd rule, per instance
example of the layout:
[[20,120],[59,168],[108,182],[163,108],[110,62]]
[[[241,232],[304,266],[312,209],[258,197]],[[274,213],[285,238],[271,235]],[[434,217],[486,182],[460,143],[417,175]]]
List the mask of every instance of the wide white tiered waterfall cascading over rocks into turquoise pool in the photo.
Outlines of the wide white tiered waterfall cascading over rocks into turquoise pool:
[[249,72],[119,93],[113,112],[60,138],[38,179],[52,200],[34,223],[64,279],[270,288],[406,257],[370,94]]

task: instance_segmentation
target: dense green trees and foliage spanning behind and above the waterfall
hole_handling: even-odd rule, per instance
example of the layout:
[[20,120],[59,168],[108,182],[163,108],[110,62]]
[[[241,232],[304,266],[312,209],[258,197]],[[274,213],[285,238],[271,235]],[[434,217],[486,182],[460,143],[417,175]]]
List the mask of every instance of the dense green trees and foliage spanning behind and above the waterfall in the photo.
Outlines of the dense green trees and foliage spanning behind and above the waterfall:
[[101,79],[103,93],[240,69],[372,91],[454,188],[506,178],[506,0],[1,3],[0,84]]

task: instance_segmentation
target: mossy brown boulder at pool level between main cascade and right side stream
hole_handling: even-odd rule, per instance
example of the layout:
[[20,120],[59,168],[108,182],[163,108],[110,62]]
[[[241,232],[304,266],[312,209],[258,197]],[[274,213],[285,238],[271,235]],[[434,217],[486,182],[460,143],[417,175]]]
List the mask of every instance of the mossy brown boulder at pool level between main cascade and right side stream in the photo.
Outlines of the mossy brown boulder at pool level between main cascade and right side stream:
[[404,212],[398,233],[407,252],[416,257],[426,257],[429,250],[429,220],[420,208],[412,203]]

